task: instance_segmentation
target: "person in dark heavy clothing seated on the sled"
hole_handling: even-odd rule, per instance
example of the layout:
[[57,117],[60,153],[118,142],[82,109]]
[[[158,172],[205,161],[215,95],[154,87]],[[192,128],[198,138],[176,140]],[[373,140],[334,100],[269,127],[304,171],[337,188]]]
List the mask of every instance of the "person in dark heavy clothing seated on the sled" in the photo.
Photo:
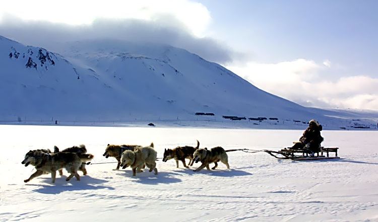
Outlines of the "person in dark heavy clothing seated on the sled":
[[323,127],[318,121],[311,119],[308,122],[308,128],[304,130],[303,135],[299,138],[299,142],[296,142],[291,149],[308,150],[311,156],[320,152],[320,143],[324,140],[320,135],[322,129]]

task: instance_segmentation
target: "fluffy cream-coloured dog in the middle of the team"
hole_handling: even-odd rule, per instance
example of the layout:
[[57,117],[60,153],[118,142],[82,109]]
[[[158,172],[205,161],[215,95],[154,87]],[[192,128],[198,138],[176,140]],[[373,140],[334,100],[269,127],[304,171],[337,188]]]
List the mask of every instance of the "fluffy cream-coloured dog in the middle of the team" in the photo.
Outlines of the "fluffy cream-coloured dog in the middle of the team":
[[149,168],[149,172],[154,171],[155,175],[158,174],[156,169],[156,157],[157,152],[154,150],[154,143],[151,143],[150,146],[137,147],[135,151],[124,151],[121,157],[120,166],[122,169],[131,167],[133,169],[133,176],[136,176],[136,173],[142,172],[143,165],[146,165]]

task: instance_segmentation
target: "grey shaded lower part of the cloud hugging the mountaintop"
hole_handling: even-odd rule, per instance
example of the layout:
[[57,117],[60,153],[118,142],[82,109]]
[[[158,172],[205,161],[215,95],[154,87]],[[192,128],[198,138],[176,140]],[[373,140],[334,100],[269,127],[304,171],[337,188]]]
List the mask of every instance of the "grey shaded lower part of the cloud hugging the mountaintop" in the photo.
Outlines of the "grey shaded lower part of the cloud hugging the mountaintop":
[[243,56],[215,39],[194,36],[179,20],[169,15],[155,15],[153,21],[96,19],[89,25],[75,26],[5,16],[3,22],[0,22],[0,34],[23,44],[55,52],[59,52],[59,46],[70,41],[115,39],[172,45],[220,63],[228,63]]

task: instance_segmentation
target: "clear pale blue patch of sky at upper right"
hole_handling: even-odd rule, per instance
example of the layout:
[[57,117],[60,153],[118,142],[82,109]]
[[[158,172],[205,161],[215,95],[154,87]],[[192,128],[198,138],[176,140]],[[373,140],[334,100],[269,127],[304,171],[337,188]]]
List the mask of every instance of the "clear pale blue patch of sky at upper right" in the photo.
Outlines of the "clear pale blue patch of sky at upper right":
[[258,62],[329,59],[377,75],[376,1],[198,1],[209,33]]

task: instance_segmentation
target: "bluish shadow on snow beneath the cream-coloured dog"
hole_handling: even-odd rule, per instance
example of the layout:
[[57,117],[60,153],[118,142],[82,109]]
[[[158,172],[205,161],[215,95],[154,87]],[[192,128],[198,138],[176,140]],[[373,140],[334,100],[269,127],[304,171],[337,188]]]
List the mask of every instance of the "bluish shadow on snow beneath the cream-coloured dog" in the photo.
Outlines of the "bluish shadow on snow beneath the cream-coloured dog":
[[127,170],[124,171],[124,173],[118,173],[117,175],[130,178],[133,182],[136,183],[149,185],[179,183],[182,181],[181,179],[174,177],[176,175],[180,175],[174,172],[159,172],[158,175],[155,175],[152,172],[148,172],[148,170],[145,170],[145,172],[137,173],[137,176],[133,176],[133,172]]

